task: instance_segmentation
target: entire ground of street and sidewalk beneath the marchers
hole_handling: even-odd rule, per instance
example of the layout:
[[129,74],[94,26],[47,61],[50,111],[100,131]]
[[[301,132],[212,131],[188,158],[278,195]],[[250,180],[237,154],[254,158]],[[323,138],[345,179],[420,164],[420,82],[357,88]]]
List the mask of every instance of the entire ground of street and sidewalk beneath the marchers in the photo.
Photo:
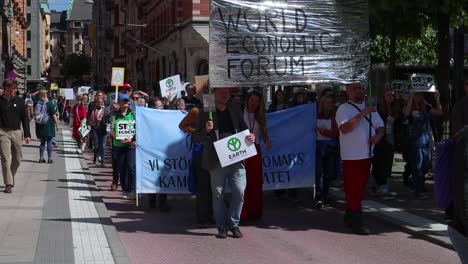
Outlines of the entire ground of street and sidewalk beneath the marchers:
[[216,239],[215,228],[196,227],[193,197],[170,195],[169,213],[145,196],[136,207],[109,190],[110,162],[100,168],[77,154],[68,127],[58,135],[55,163],[37,163],[33,141],[13,194],[0,194],[0,263],[460,263],[453,250],[374,214],[366,217],[373,235],[351,234],[342,210],[315,209],[310,191],[299,202],[266,192],[262,222],[241,227],[242,239]]

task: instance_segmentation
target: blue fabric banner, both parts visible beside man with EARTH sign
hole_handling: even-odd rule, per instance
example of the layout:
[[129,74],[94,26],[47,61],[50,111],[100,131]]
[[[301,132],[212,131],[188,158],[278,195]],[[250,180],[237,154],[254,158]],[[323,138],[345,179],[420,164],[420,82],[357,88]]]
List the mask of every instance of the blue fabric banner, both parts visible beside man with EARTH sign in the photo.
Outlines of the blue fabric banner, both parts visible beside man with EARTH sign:
[[[262,146],[264,190],[315,184],[315,104],[268,114],[273,149]],[[138,107],[136,111],[138,193],[189,193],[190,140],[179,129],[184,114]]]

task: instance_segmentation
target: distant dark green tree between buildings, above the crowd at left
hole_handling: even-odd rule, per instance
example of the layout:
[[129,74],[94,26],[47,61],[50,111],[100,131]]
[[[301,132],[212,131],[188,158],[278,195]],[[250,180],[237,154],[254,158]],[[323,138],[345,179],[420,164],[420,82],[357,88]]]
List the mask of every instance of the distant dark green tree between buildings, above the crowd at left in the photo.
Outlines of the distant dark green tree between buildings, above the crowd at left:
[[91,57],[83,53],[72,53],[65,57],[63,73],[74,83],[82,82],[83,75],[91,72]]

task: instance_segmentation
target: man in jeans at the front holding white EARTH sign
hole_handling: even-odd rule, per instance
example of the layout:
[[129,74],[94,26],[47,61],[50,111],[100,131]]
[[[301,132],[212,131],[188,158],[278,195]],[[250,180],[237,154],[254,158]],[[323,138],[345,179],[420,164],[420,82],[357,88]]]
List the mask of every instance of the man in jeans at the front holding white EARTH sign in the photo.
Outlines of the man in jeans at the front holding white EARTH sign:
[[[211,189],[213,192],[213,211],[218,228],[217,238],[227,238],[231,231],[234,238],[243,235],[239,230],[240,215],[244,203],[246,174],[243,162],[221,167],[217,157],[214,142],[246,130],[242,110],[238,105],[228,103],[230,92],[228,88],[215,89],[216,112],[209,114],[200,111],[197,130],[193,134],[195,141],[202,142],[202,167],[210,172]],[[246,139],[255,142],[255,135],[249,134]],[[226,180],[232,193],[232,199],[227,212],[224,202],[224,186]]]

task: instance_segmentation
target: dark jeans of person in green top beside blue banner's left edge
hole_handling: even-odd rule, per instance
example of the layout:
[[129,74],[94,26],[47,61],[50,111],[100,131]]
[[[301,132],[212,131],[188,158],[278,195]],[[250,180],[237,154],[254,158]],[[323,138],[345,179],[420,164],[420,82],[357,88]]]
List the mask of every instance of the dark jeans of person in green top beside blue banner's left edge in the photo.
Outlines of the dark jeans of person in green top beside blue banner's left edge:
[[136,150],[130,147],[113,147],[112,159],[117,165],[120,186],[124,192],[135,191]]

